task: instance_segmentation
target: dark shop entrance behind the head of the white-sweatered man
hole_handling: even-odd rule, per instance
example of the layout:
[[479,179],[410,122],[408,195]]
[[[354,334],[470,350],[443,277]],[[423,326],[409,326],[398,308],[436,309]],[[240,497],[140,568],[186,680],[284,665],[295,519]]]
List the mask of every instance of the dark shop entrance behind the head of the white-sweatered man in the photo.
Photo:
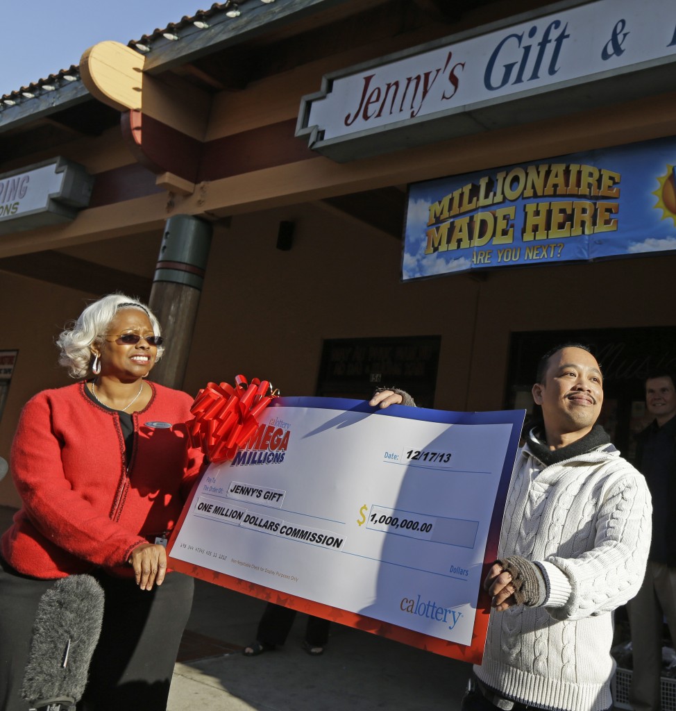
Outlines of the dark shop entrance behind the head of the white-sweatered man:
[[622,455],[633,459],[634,435],[650,422],[643,380],[659,368],[676,370],[676,327],[601,328],[579,331],[513,333],[505,407],[532,410],[530,390],[537,361],[559,343],[584,343],[603,370],[603,409],[599,423]]

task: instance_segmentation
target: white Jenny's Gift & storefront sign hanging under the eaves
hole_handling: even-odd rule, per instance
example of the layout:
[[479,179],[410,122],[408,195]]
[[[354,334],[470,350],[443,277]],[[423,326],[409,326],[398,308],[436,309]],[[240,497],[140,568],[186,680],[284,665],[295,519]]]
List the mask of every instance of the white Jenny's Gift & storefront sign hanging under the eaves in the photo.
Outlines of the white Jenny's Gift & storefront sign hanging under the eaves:
[[[350,160],[607,103],[589,82],[613,82],[614,100],[627,100],[645,92],[641,73],[675,73],[673,0],[564,6],[326,75],[303,98],[296,135]],[[547,92],[557,92],[548,104]],[[526,105],[505,113],[516,100]]]

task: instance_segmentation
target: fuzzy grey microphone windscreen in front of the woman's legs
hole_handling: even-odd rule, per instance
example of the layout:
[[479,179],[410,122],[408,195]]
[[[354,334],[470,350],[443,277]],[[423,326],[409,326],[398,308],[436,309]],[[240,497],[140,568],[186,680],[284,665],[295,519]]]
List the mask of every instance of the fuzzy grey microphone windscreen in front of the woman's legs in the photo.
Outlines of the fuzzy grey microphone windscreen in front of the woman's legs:
[[104,594],[91,575],[59,579],[43,594],[21,695],[28,711],[75,711],[103,620]]

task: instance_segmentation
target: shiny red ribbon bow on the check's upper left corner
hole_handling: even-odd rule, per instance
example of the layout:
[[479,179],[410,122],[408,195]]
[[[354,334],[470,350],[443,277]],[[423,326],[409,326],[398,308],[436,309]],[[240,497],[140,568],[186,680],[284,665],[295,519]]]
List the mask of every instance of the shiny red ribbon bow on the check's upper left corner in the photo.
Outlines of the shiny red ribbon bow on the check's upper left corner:
[[214,464],[232,459],[256,431],[257,417],[277,395],[268,380],[253,378],[247,383],[244,375],[237,375],[235,387],[207,383],[191,407],[195,417],[188,422],[188,433],[193,447],[199,447]]

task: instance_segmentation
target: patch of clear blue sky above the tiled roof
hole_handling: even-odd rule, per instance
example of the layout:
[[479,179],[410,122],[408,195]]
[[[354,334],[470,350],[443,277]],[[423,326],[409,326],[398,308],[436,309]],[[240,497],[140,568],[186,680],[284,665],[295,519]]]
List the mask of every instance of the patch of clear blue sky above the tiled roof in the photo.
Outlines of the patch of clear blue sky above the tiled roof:
[[104,40],[127,44],[213,0],[3,0],[0,95],[80,64]]

